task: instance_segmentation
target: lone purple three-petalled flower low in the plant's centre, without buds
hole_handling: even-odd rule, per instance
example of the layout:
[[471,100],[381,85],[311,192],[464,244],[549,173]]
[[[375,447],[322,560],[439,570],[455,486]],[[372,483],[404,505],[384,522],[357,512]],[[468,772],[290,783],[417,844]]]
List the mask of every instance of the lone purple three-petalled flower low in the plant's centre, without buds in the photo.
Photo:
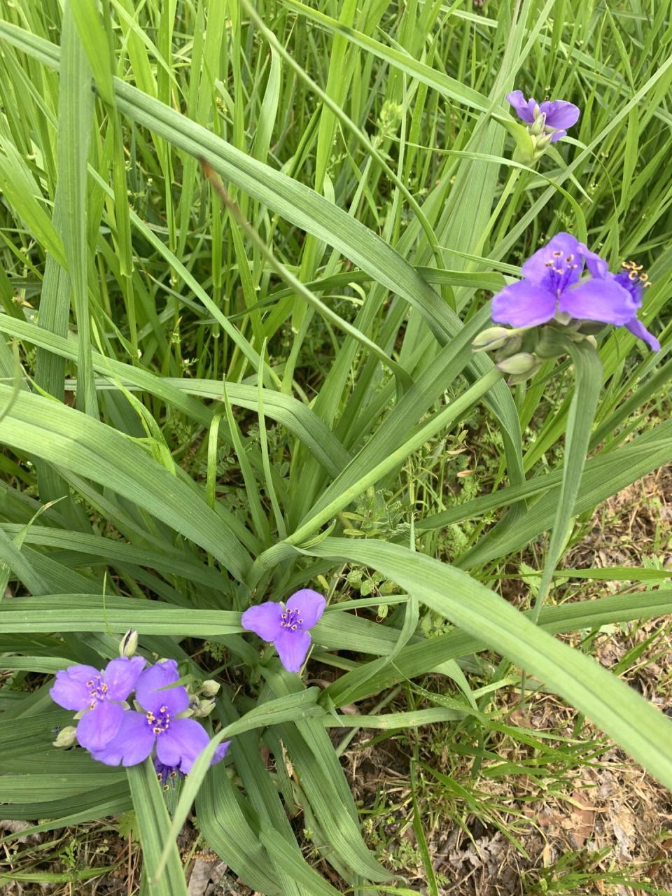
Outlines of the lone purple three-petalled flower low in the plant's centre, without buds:
[[308,630],[322,616],[325,606],[326,600],[321,594],[304,588],[292,594],[287,604],[268,600],[250,607],[240,623],[249,632],[272,643],[288,672],[298,672],[310,647]]

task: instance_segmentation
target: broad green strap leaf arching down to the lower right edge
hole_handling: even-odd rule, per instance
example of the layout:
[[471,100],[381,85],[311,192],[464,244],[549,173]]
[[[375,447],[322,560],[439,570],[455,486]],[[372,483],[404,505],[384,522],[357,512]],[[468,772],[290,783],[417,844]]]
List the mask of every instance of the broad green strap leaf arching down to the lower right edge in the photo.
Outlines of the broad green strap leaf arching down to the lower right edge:
[[469,574],[374,539],[325,538],[302,553],[379,570],[427,607],[552,687],[672,788],[672,722],[594,659],[538,629]]

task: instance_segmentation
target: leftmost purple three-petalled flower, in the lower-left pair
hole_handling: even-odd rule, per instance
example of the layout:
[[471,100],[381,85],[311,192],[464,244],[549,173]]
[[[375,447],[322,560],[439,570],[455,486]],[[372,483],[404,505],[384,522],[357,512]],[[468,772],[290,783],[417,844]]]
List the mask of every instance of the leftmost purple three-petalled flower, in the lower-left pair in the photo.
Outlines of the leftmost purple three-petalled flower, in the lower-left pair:
[[56,674],[51,699],[66,710],[84,712],[77,725],[77,741],[87,750],[101,750],[116,736],[124,719],[125,701],[142,672],[142,657],[119,657],[102,671],[92,666],[69,666]]

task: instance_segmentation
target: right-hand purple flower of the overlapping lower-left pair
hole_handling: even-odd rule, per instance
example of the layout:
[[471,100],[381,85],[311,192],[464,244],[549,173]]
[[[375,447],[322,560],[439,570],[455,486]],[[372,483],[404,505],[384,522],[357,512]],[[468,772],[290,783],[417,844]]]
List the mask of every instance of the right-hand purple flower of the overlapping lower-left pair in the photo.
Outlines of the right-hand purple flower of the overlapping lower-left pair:
[[[156,745],[156,758],[161,766],[188,774],[198,754],[210,742],[205,728],[195,719],[180,719],[189,707],[189,694],[179,679],[177,662],[165,659],[145,669],[138,678],[135,697],[144,712],[124,713],[121,725],[111,741],[91,755],[106,765],[137,765],[143,762]],[[212,762],[226,754],[229,742],[220,744]]]

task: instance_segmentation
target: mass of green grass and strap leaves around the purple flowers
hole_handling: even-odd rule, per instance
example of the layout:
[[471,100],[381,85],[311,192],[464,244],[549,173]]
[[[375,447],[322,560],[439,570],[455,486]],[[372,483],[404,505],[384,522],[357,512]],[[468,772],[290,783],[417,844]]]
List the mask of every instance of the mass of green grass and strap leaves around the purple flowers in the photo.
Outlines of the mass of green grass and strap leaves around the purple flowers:
[[[354,892],[404,892],[329,729],[478,739],[509,663],[669,786],[668,719],[553,636],[668,613],[667,572],[615,570],[622,593],[600,599],[551,590],[538,616],[536,586],[529,610],[499,593],[521,550],[553,530],[551,576],[601,502],[672,460],[667,0],[0,7],[0,813],[44,831],[134,806],[142,892],[177,894],[195,798],[259,892],[336,892],[320,857]],[[582,108],[538,170],[498,120],[514,88]],[[606,331],[601,366],[577,349],[511,389],[470,342],[559,229],[646,264],[664,348]],[[239,625],[304,586],[330,597],[323,690]],[[50,676],[104,664],[131,626],[148,657],[225,683],[229,762],[199,762],[170,812],[151,766],[51,746],[68,714]],[[483,650],[506,662],[477,699]],[[428,672],[452,696],[341,711]]]

